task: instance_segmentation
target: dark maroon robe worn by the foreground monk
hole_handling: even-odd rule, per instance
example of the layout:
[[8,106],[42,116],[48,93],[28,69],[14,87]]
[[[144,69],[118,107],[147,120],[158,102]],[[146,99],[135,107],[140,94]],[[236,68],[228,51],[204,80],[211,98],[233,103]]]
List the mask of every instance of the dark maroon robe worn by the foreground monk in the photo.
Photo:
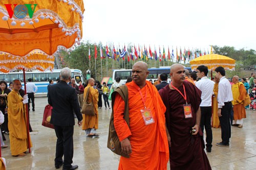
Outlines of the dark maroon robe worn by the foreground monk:
[[[166,106],[166,126],[170,134],[170,169],[211,169],[204,152],[203,133],[199,127],[197,135],[191,135],[191,128],[196,125],[196,112],[201,103],[201,90],[192,83],[183,82],[186,90],[187,103],[191,104],[192,118],[185,118],[183,96],[177,90],[166,86],[159,94]],[[178,88],[184,95],[183,86]]]

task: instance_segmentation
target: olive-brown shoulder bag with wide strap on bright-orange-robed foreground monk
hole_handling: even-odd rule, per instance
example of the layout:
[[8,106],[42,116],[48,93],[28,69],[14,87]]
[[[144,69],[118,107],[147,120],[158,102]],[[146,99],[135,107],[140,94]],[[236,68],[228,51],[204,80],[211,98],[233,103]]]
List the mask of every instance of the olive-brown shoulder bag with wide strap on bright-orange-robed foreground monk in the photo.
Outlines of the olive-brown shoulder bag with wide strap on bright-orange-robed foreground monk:
[[124,113],[123,117],[127,125],[129,126],[129,104],[128,104],[128,89],[127,86],[122,85],[119,86],[111,95],[112,98],[112,113],[110,117],[110,127],[109,127],[109,136],[107,147],[117,155],[129,158],[129,155],[126,155],[122,152],[121,143],[117,136],[115,127],[114,127],[114,103],[115,103],[115,95],[119,93],[124,100]]

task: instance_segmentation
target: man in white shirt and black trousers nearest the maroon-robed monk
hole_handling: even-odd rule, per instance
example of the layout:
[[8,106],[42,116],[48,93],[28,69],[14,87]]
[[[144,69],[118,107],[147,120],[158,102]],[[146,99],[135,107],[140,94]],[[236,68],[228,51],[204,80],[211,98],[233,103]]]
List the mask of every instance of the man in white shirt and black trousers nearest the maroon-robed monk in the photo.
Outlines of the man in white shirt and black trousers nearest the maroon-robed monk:
[[212,147],[212,131],[211,131],[211,96],[214,93],[214,82],[207,78],[208,67],[200,65],[196,69],[197,77],[200,78],[196,84],[197,88],[202,91],[200,104],[201,121],[200,128],[206,132],[206,151],[211,152]]

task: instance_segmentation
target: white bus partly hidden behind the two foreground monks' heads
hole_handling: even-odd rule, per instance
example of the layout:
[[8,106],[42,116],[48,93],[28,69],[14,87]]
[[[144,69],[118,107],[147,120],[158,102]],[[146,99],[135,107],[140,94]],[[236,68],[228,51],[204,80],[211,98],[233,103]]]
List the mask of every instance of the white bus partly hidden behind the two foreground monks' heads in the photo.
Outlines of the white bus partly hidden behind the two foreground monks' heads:
[[[185,69],[188,69],[189,72],[192,72],[191,67],[185,67]],[[158,75],[160,75],[161,73],[166,73],[168,75],[168,80],[167,82],[170,83],[170,66],[164,66],[164,67],[160,67],[160,68],[148,68],[148,71],[150,71],[150,74],[147,76],[146,80],[152,80],[154,83],[154,80],[157,80]],[[113,83],[116,82],[116,78],[120,77],[121,84],[125,84],[126,83],[126,79],[128,77],[132,76],[132,69],[114,69],[113,70]]]

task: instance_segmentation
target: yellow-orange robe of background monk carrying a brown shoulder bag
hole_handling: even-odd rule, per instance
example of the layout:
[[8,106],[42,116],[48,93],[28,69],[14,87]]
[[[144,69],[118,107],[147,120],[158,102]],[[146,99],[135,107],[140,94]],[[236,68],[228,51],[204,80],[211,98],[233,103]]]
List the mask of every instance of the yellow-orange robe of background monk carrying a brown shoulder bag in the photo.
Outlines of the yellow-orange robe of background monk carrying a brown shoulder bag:
[[87,130],[87,129],[98,129],[98,123],[99,123],[99,112],[98,112],[98,96],[99,96],[99,91],[97,89],[94,89],[90,84],[87,85],[86,88],[84,88],[84,92],[83,92],[83,103],[85,103],[85,99],[86,99],[86,94],[88,89],[90,88],[90,92],[88,94],[88,99],[87,102],[91,103],[93,100],[93,104],[94,104],[94,113],[95,116],[91,116],[91,115],[87,115],[87,114],[82,114],[82,130]]

